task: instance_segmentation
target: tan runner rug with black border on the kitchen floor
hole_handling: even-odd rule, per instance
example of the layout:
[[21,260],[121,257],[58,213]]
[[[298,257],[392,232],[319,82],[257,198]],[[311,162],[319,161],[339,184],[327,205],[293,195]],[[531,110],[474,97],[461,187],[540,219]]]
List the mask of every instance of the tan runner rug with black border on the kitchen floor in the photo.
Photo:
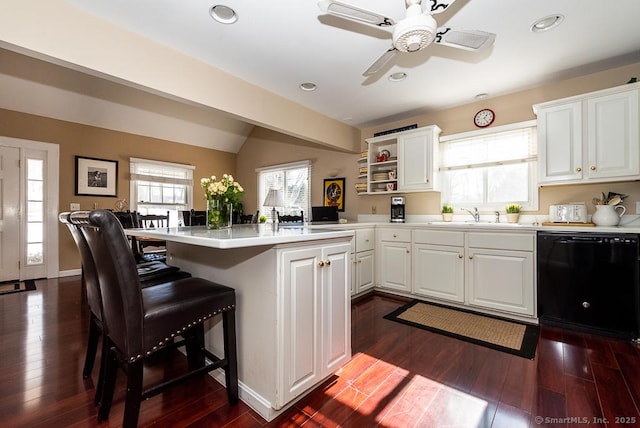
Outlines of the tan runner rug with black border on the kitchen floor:
[[533,359],[540,328],[489,315],[411,301],[384,318]]

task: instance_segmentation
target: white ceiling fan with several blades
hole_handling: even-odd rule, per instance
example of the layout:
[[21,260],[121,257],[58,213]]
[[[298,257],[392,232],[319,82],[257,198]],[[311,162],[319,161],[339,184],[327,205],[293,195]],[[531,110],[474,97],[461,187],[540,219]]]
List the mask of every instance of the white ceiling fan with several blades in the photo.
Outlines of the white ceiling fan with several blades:
[[363,73],[363,76],[371,76],[380,71],[398,52],[417,52],[431,43],[469,51],[479,51],[491,46],[496,38],[493,33],[438,27],[432,15],[444,12],[455,1],[406,0],[407,16],[398,22],[340,1],[322,0],[318,2],[318,7],[340,18],[393,29],[391,47]]

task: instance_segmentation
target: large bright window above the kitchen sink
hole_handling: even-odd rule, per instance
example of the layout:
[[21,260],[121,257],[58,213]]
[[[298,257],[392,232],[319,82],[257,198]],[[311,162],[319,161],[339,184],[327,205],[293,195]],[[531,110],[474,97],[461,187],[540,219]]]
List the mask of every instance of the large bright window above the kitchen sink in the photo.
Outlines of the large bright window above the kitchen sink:
[[504,210],[538,209],[535,121],[440,139],[442,203]]

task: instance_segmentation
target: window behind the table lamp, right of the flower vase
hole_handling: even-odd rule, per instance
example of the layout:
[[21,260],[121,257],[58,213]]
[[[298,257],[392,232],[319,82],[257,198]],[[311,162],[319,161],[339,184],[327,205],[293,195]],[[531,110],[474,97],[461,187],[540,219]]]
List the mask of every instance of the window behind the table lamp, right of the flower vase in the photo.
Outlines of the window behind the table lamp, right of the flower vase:
[[308,217],[310,208],[310,177],[311,163],[309,161],[294,162],[284,165],[257,169],[258,173],[258,207],[260,213],[272,220],[272,209],[263,206],[269,189],[279,189],[284,197],[284,206],[276,207],[281,215],[300,215]]

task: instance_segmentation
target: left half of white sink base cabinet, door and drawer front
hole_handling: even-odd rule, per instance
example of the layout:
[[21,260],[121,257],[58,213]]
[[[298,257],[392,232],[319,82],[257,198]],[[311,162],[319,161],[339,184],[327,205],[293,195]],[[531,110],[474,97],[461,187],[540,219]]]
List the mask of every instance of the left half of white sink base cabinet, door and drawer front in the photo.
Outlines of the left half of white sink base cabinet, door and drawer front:
[[413,292],[464,302],[464,232],[413,231]]

